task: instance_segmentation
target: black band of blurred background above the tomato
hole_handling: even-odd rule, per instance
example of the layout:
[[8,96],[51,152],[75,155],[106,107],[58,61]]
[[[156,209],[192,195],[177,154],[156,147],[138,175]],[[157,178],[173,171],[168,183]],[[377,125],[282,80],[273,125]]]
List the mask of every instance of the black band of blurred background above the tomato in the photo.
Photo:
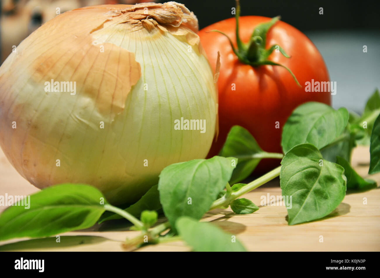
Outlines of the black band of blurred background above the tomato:
[[[206,27],[222,19],[230,18],[235,0],[182,0],[190,11],[198,17],[199,28]],[[241,15],[274,17],[302,32],[336,29],[380,30],[379,1],[343,0],[241,0]],[[320,15],[319,8],[323,8]]]

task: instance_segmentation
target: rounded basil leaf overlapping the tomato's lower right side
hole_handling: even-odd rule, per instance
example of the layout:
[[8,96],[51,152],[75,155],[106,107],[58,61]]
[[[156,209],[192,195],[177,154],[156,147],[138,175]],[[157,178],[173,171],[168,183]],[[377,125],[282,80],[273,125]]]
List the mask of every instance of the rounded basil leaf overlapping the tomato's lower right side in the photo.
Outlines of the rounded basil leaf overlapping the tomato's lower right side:
[[298,106],[288,118],[282,131],[281,145],[283,152],[288,152],[295,145],[310,143],[318,149],[325,147],[345,130],[348,111],[330,106],[308,102]]

